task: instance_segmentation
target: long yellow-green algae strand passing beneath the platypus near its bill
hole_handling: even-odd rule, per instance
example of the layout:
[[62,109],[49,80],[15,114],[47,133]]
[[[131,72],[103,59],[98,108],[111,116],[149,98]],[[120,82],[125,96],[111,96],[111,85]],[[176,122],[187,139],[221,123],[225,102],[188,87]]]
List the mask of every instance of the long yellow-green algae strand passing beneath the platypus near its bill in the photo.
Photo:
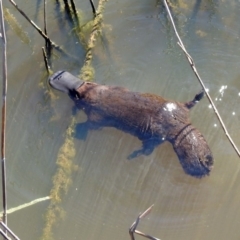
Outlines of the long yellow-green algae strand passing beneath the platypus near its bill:
[[[86,56],[84,65],[80,71],[80,77],[84,81],[92,81],[95,76],[95,71],[92,66],[93,54],[92,50],[96,45],[97,37],[101,33],[104,3],[107,0],[100,0],[96,17],[93,19],[92,23],[88,26],[92,26],[92,30],[89,34],[88,41],[86,42]],[[78,28],[76,28],[78,29]],[[79,39],[83,41],[82,33],[79,34]],[[52,100],[55,99],[54,96],[49,95]],[[74,146],[73,132],[75,129],[75,117],[72,116],[69,127],[66,130],[65,140],[63,145],[60,147],[56,164],[57,170],[52,178],[52,189],[50,191],[50,204],[47,208],[45,214],[45,226],[43,229],[41,240],[53,240],[53,227],[56,225],[59,219],[63,219],[65,211],[61,206],[62,198],[67,194],[69,187],[72,183],[72,173],[78,169],[78,166],[74,164],[74,158],[76,155],[76,150]]]

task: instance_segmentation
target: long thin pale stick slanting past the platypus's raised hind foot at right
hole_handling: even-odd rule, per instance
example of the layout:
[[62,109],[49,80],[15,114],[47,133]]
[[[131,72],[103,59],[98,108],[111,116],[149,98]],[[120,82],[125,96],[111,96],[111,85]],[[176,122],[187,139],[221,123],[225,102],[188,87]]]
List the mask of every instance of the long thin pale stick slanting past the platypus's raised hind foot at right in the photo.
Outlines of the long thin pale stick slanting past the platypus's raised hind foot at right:
[[163,3],[164,3],[164,5],[165,5],[165,8],[167,9],[167,13],[168,13],[169,18],[170,18],[170,21],[171,21],[171,23],[172,23],[172,25],[173,25],[174,32],[175,32],[175,34],[176,34],[176,36],[177,36],[177,39],[178,39],[178,41],[179,41],[179,42],[178,42],[178,45],[181,47],[181,49],[182,49],[183,52],[185,53],[185,55],[186,55],[186,57],[187,57],[187,60],[188,60],[188,62],[190,63],[190,66],[191,66],[194,74],[196,75],[196,77],[197,77],[198,81],[200,82],[200,84],[201,84],[201,86],[202,86],[202,88],[203,88],[203,90],[204,90],[204,92],[205,92],[205,94],[206,94],[209,102],[211,103],[211,105],[212,105],[212,107],[213,107],[213,110],[214,110],[214,112],[215,112],[215,114],[216,114],[216,116],[217,116],[217,118],[218,118],[218,120],[219,120],[219,122],[220,122],[220,125],[221,125],[223,131],[225,132],[228,140],[229,140],[230,143],[232,144],[232,146],[233,146],[234,150],[236,151],[237,155],[240,157],[240,151],[238,150],[236,144],[234,143],[234,141],[232,140],[230,134],[228,133],[227,128],[225,127],[225,124],[224,124],[224,122],[223,122],[223,120],[222,120],[222,118],[221,118],[221,116],[220,116],[217,108],[215,107],[215,105],[214,105],[214,103],[213,103],[213,101],[212,101],[212,99],[211,99],[211,97],[210,97],[210,95],[209,95],[209,93],[208,93],[208,91],[207,91],[207,89],[206,89],[206,87],[205,87],[202,79],[200,78],[200,76],[199,76],[199,74],[198,74],[198,72],[197,72],[197,69],[196,69],[195,63],[193,62],[192,57],[190,56],[190,54],[187,52],[185,46],[183,45],[183,42],[182,42],[182,40],[181,40],[181,38],[180,38],[180,36],[179,36],[179,34],[178,34],[178,32],[177,32],[177,29],[176,29],[175,24],[174,24],[174,21],[173,21],[171,12],[170,12],[170,10],[169,10],[167,1],[166,1],[166,0],[163,0]]

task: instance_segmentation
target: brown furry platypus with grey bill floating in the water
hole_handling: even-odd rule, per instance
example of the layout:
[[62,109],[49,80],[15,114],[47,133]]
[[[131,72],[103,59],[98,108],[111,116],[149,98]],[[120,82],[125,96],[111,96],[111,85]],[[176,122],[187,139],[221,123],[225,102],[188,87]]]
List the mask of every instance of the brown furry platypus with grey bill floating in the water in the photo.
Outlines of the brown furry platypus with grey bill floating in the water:
[[67,71],[56,72],[49,83],[67,93],[75,106],[86,113],[85,127],[115,127],[138,137],[142,148],[130,154],[129,159],[149,155],[168,141],[185,173],[198,178],[209,175],[213,167],[211,150],[189,120],[189,110],[201,100],[203,91],[192,101],[181,103],[123,87],[85,82]]

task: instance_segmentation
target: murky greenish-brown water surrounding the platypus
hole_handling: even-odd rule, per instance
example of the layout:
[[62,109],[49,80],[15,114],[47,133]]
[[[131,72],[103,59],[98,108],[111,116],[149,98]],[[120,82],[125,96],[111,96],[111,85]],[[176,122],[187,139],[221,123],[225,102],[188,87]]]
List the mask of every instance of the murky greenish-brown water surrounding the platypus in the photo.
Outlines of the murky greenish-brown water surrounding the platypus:
[[[182,40],[233,137],[240,147],[240,2],[171,1]],[[18,1],[43,26],[43,2]],[[82,21],[91,19],[88,1],[76,1]],[[72,116],[68,96],[49,96],[42,57],[44,41],[26,20],[10,9],[26,31],[23,42],[6,23],[8,38],[7,189],[8,208],[48,196],[56,159]],[[79,74],[85,50],[55,1],[48,2],[48,34],[78,61],[54,52],[53,69]],[[20,38],[21,37],[21,38]],[[164,8],[156,1],[106,3],[103,35],[94,49],[96,81],[188,101],[201,89],[176,44]],[[220,92],[222,86],[227,88]],[[85,120],[78,113],[77,122]],[[240,159],[225,137],[205,98],[191,119],[215,157],[209,177],[184,174],[170,144],[146,157],[128,161],[141,143],[112,128],[74,139],[78,169],[62,197],[63,220],[54,239],[130,239],[128,228],[139,212],[155,204],[139,230],[160,239],[231,239],[240,237]],[[12,213],[9,227],[21,239],[39,239],[49,201]],[[141,237],[138,237],[140,239]]]

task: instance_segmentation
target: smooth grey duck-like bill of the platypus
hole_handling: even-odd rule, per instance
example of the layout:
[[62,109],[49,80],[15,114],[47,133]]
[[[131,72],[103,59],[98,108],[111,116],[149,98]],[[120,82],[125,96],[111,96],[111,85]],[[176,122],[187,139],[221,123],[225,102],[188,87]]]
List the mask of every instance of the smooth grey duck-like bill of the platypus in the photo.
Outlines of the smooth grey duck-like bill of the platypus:
[[84,82],[66,71],[58,71],[49,78],[49,84],[62,92],[71,94]]

